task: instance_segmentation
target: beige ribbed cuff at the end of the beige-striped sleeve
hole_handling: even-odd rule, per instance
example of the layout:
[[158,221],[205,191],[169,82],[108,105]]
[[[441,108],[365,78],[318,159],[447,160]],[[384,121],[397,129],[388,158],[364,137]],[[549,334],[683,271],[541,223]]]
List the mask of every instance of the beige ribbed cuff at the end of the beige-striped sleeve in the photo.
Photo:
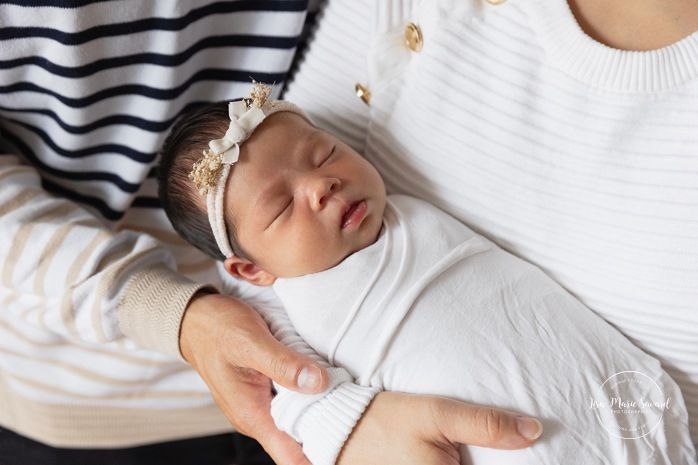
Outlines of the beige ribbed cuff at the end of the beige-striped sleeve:
[[185,361],[179,351],[182,317],[192,296],[205,287],[165,266],[140,270],[119,301],[119,327],[139,346]]

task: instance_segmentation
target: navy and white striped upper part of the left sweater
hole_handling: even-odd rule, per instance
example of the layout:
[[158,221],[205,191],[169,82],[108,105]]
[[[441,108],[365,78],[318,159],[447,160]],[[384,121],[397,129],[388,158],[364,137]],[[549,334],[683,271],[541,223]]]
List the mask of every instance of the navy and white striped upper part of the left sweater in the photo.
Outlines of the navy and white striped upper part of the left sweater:
[[307,7],[147,3],[0,5],[3,142],[40,170],[46,188],[112,221],[134,201],[157,205],[137,193],[190,105],[244,95],[250,78],[281,89]]

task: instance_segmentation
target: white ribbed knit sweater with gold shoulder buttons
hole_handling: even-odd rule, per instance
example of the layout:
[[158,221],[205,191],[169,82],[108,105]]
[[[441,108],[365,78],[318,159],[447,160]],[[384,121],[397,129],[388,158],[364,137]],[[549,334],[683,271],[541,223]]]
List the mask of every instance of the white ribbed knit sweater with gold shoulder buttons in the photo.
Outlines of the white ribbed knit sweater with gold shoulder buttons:
[[629,52],[564,0],[335,0],[286,97],[657,357],[698,442],[698,32]]

